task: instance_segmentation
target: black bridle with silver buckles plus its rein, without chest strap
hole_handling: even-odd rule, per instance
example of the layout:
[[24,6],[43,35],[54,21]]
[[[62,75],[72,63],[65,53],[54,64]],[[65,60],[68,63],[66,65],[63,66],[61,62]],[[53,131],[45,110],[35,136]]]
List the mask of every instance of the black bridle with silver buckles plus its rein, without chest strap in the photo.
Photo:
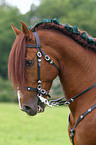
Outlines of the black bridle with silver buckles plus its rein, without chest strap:
[[78,98],[79,96],[83,95],[84,93],[88,92],[89,90],[91,90],[92,88],[96,87],[96,84],[92,85],[91,87],[89,87],[88,89],[84,90],[83,92],[81,92],[80,94],[76,95],[73,98],[70,98],[68,100],[64,100],[62,101],[63,98],[59,98],[57,100],[50,100],[48,101],[47,99],[43,98],[42,95],[48,96],[49,98],[51,98],[51,96],[49,95],[49,93],[45,90],[42,89],[41,87],[41,79],[40,79],[40,68],[41,68],[41,56],[43,55],[45,60],[50,63],[51,65],[53,65],[57,70],[58,73],[60,74],[60,69],[58,68],[58,66],[50,59],[50,57],[48,55],[46,55],[44,53],[44,51],[41,49],[41,44],[40,44],[40,39],[38,36],[38,33],[36,31],[32,31],[32,33],[35,36],[36,39],[36,45],[33,44],[27,44],[26,48],[37,48],[37,61],[38,61],[38,85],[37,88],[33,88],[33,87],[26,87],[27,91],[36,91],[37,92],[37,96],[39,97],[39,99],[44,102],[45,104],[47,104],[48,106],[52,107],[52,106],[62,106],[65,104],[70,104],[71,102],[74,101],[74,99]]

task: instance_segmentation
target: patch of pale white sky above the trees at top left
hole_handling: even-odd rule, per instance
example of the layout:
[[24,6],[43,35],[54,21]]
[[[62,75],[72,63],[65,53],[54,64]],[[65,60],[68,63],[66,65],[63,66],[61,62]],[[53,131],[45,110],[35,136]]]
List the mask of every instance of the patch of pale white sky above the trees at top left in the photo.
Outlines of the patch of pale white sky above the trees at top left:
[[6,0],[11,6],[16,6],[22,14],[25,14],[30,10],[32,4],[39,5],[39,0]]

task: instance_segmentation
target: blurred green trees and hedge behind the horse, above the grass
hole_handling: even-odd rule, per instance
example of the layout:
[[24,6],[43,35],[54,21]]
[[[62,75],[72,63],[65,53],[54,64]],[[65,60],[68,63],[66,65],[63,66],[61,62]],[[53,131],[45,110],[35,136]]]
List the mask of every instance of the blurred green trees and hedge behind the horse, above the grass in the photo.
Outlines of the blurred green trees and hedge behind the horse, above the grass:
[[[27,1],[27,0],[26,0]],[[22,14],[17,7],[10,6],[5,0],[0,0],[0,101],[17,102],[17,96],[12,89],[7,76],[8,56],[15,40],[11,23],[21,29],[20,21],[27,26],[42,21],[42,18],[59,18],[61,23],[77,25],[89,35],[96,36],[96,0],[38,0],[30,11]],[[27,2],[26,2],[27,6]],[[53,96],[62,96],[60,82],[56,78],[51,89]]]

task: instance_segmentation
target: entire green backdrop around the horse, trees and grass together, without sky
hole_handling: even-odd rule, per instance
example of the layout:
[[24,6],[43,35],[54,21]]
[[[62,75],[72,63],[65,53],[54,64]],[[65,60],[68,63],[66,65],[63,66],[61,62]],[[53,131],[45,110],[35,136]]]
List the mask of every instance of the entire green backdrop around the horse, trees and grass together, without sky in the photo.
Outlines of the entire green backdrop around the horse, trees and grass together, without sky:
[[[30,118],[16,104],[17,95],[7,76],[8,56],[15,40],[11,23],[21,29],[21,20],[29,26],[42,18],[59,18],[61,23],[77,25],[96,37],[96,0],[32,0],[25,14],[6,1],[0,0],[0,145],[71,145],[67,131],[68,107],[47,107],[43,114]],[[63,96],[58,78],[53,82],[51,94]]]

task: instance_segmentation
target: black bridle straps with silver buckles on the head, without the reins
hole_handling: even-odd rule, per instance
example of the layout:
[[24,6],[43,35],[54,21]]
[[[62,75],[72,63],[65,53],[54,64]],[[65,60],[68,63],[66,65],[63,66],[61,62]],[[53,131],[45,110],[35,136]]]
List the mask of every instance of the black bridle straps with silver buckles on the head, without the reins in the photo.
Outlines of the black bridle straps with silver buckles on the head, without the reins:
[[27,89],[27,91],[36,91],[38,98],[42,102],[44,102],[44,103],[46,102],[46,104],[49,105],[49,103],[47,101],[45,101],[45,98],[42,97],[42,95],[45,95],[45,96],[48,96],[49,98],[51,98],[49,93],[45,89],[42,89],[42,87],[41,87],[41,79],[40,79],[41,56],[43,55],[45,60],[49,64],[53,65],[58,70],[59,73],[60,73],[60,70],[59,70],[58,66],[50,59],[50,57],[48,55],[46,55],[45,52],[41,49],[41,44],[40,44],[40,39],[39,39],[38,33],[36,31],[33,31],[33,34],[36,39],[36,45],[27,44],[26,47],[27,48],[37,48],[37,62],[38,62],[38,81],[37,81],[37,83],[38,83],[38,85],[37,85],[37,88],[27,87],[26,89]]

